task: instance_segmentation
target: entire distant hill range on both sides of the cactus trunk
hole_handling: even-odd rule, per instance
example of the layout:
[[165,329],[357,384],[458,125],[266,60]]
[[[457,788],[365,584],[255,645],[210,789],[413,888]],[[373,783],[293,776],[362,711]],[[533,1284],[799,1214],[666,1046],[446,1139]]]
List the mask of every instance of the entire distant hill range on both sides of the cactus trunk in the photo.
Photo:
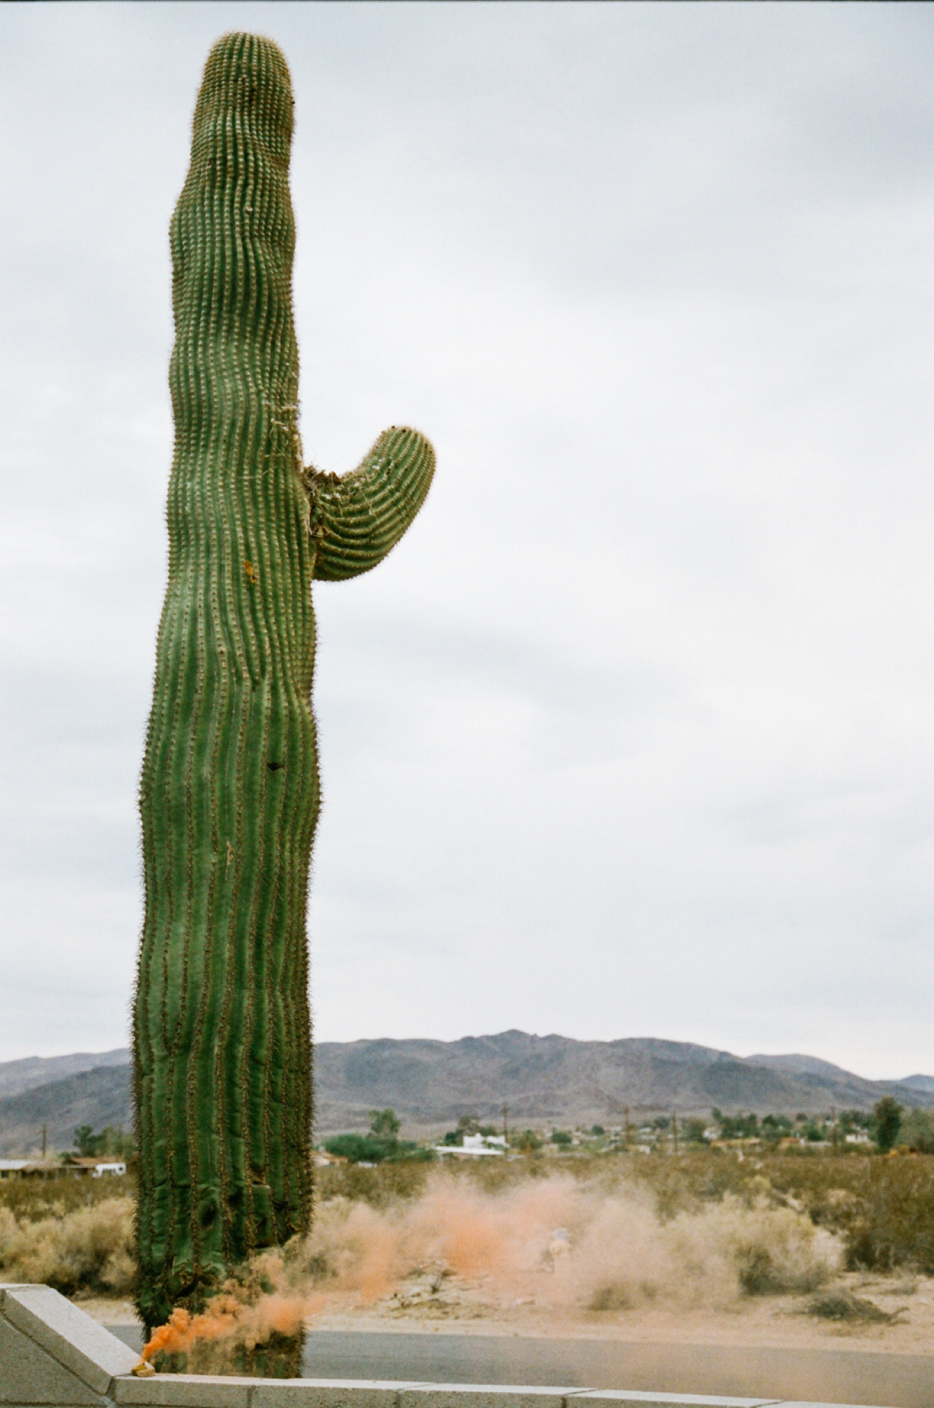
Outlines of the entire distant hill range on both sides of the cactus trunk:
[[[76,1125],[130,1128],[130,1053],[56,1056],[48,1062],[0,1063],[0,1157],[38,1152],[42,1124],[49,1149],[68,1149]],[[35,1083],[37,1071],[69,1070],[65,1079]],[[14,1070],[18,1067],[18,1070]],[[75,1066],[70,1067],[75,1071]],[[10,1079],[15,1093],[7,1084]],[[23,1080],[31,1084],[24,1087]],[[316,1046],[317,1133],[365,1129],[371,1110],[392,1105],[406,1133],[449,1128],[461,1115],[510,1125],[617,1125],[676,1110],[707,1115],[724,1111],[820,1114],[869,1110],[882,1095],[934,1108],[934,1077],[873,1081],[816,1056],[733,1056],[730,1052],[635,1036],[616,1042],[578,1042],[568,1036],[499,1032],[456,1042],[361,1041]]]

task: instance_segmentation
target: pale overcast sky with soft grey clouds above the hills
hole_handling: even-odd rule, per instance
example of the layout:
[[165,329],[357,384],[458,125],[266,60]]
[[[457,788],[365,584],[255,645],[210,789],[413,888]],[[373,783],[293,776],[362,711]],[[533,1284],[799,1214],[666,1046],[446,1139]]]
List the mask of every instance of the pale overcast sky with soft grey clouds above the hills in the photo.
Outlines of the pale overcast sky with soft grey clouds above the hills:
[[434,441],[316,586],[317,1036],[934,1071],[934,13],[0,7],[0,1059],[124,1045],[168,222],[292,66],[306,459]]

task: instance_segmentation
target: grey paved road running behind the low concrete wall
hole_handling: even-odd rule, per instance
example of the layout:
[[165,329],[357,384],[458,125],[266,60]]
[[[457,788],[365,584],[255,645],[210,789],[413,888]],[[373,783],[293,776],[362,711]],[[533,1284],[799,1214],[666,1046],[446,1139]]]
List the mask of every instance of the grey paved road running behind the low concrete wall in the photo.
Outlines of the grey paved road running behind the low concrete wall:
[[[139,1332],[114,1326],[134,1349]],[[313,1331],[306,1378],[396,1378],[448,1384],[556,1384],[649,1393],[785,1398],[931,1408],[934,1356],[852,1349],[623,1345],[600,1339],[380,1335]]]

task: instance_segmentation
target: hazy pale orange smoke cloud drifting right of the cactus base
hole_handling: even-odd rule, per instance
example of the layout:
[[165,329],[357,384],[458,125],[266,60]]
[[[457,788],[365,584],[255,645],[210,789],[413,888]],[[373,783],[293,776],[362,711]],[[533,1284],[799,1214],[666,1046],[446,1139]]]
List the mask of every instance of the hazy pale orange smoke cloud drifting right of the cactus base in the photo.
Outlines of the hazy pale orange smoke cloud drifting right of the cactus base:
[[386,1208],[321,1202],[309,1242],[293,1249],[293,1284],[304,1276],[328,1297],[355,1293],[368,1305],[409,1277],[454,1276],[558,1314],[731,1305],[749,1266],[768,1267],[771,1284],[789,1291],[820,1286],[840,1264],[838,1239],[776,1202],[765,1186],[752,1204],[699,1201],[664,1218],[625,1177],[583,1184],[552,1174],[492,1191],[440,1170],[418,1197]]

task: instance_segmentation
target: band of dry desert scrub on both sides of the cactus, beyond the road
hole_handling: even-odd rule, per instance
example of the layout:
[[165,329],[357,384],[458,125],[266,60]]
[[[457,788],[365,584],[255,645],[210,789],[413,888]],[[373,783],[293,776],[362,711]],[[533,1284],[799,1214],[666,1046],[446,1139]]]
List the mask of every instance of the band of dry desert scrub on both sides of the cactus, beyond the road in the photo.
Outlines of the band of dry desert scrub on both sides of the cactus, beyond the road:
[[[131,1177],[118,1193],[90,1178],[8,1183],[0,1278],[131,1295],[134,1212]],[[516,1294],[538,1277],[540,1304],[582,1311],[813,1293],[840,1270],[934,1274],[934,1157],[687,1149],[340,1163],[317,1170],[313,1233],[280,1253],[278,1274],[366,1304],[425,1269]]]

